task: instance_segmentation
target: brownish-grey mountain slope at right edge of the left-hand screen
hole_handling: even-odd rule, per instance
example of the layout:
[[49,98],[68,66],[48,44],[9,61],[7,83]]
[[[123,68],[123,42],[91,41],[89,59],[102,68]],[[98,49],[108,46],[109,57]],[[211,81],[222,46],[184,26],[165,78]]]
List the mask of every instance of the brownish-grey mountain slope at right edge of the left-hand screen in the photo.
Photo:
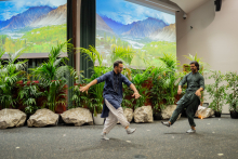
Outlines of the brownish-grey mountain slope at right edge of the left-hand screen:
[[48,14],[40,16],[29,26],[42,27],[42,26],[51,26],[51,25],[62,25],[62,24],[66,24],[66,17],[67,17],[67,4],[64,4],[55,10],[52,10]]

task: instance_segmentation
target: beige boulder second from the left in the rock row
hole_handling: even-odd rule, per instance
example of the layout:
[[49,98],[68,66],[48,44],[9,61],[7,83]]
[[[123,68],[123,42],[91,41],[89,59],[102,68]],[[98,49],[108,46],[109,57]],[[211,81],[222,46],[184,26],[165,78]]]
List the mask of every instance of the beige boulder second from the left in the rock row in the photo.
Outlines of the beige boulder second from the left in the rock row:
[[50,109],[38,109],[30,118],[27,120],[28,127],[45,127],[45,125],[56,125],[58,121],[58,115]]

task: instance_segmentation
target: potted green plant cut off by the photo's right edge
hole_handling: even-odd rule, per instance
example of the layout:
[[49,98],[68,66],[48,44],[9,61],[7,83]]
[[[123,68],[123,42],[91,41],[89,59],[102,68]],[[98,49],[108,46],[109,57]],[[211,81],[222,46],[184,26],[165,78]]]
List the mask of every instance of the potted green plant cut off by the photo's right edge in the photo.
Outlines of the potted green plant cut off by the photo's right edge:
[[229,104],[230,117],[238,119],[238,75],[237,72],[229,71],[225,75],[227,85],[226,103]]

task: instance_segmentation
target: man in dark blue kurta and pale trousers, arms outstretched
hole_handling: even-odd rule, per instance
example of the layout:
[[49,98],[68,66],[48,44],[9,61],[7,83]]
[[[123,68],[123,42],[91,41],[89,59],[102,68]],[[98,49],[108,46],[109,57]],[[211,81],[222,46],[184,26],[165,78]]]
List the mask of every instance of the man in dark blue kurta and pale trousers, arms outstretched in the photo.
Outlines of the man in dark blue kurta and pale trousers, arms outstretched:
[[103,76],[96,78],[85,87],[81,87],[80,91],[84,92],[88,91],[90,87],[101,83],[105,81],[104,85],[104,106],[103,106],[103,112],[102,118],[106,118],[104,130],[102,133],[103,140],[109,140],[106,137],[106,134],[109,133],[109,131],[117,124],[119,121],[127,130],[128,134],[132,134],[135,129],[129,128],[129,122],[127,121],[127,118],[123,116],[123,109],[121,108],[121,102],[122,102],[122,82],[130,87],[133,91],[135,98],[138,98],[141,95],[138,94],[136,88],[134,84],[128,80],[128,78],[123,75],[121,75],[121,71],[123,70],[123,64],[121,61],[117,61],[114,63],[114,70],[104,74]]

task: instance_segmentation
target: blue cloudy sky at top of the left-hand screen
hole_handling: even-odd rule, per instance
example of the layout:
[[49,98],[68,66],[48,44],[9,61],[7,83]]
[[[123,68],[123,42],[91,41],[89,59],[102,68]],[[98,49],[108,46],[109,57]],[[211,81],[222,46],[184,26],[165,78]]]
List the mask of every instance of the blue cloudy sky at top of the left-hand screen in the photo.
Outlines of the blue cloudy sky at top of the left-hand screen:
[[31,6],[57,8],[67,3],[67,0],[9,0],[0,1],[0,21],[6,21],[13,15],[25,12]]

